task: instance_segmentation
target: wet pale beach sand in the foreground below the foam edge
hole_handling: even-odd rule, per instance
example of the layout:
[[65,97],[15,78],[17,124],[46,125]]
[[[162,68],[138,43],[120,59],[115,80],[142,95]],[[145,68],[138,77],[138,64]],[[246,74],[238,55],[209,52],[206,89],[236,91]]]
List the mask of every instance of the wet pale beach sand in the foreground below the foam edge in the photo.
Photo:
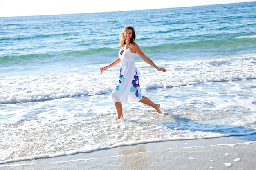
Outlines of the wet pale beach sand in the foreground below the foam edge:
[[0,170],[255,170],[256,134],[165,141],[20,161]]

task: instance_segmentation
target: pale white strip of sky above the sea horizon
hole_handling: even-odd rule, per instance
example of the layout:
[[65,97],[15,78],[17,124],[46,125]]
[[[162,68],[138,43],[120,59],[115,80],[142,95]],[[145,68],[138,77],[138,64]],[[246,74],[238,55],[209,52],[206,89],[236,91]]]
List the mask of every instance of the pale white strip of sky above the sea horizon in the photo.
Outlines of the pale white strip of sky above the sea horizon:
[[0,0],[0,17],[132,11],[255,0]]

